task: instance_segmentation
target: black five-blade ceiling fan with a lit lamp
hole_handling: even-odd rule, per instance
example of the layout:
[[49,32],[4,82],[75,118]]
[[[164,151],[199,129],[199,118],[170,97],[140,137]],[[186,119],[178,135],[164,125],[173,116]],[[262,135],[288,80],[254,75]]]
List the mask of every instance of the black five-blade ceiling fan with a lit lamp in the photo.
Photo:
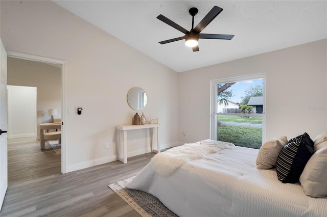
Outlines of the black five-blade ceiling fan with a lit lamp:
[[234,37],[234,35],[221,35],[221,34],[203,34],[201,33],[202,30],[211,22],[213,21],[213,19],[215,19],[215,17],[220,14],[220,12],[222,12],[222,8],[219,8],[217,6],[214,6],[213,9],[211,9],[209,11],[209,13],[207,13],[207,15],[205,15],[205,17],[199,22],[199,24],[197,24],[195,26],[195,28],[193,28],[194,26],[194,16],[198,13],[198,9],[197,8],[191,8],[189,10],[189,13],[192,16],[192,29],[191,31],[187,31],[184,28],[182,28],[182,26],[178,25],[177,23],[175,23],[174,21],[168,19],[167,17],[165,17],[164,15],[160,14],[159,16],[157,16],[157,19],[161,20],[162,22],[167,23],[168,25],[172,26],[173,28],[175,28],[176,30],[184,33],[185,35],[182,37],[178,37],[178,38],[173,38],[173,39],[169,39],[169,40],[165,40],[165,41],[160,41],[160,44],[167,44],[170,42],[174,42],[174,41],[179,41],[182,39],[185,39],[185,45],[192,47],[193,52],[195,51],[199,51],[199,46],[198,46],[198,41],[199,38],[201,39],[225,39],[225,40],[230,40]]

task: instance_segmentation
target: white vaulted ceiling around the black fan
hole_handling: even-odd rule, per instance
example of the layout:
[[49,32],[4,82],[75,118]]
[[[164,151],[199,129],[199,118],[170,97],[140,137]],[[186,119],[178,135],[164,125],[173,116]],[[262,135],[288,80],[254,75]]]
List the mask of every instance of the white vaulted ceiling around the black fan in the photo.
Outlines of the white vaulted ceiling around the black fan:
[[[53,1],[167,67],[182,72],[327,38],[327,1]],[[223,11],[202,31],[232,40],[199,39],[198,52],[156,17],[192,28],[214,7]]]

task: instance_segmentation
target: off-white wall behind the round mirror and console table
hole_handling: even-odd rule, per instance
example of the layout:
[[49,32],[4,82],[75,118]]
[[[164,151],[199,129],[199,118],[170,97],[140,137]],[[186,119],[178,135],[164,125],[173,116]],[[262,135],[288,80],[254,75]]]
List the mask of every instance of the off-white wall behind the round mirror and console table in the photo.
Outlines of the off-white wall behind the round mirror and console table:
[[[115,126],[132,123],[126,97],[135,86],[148,96],[142,112],[162,124],[162,147],[177,143],[173,70],[50,1],[1,1],[1,39],[7,50],[67,62],[65,109],[83,107],[64,123],[68,172],[116,159]],[[128,135],[129,156],[148,150],[149,130],[139,131]]]

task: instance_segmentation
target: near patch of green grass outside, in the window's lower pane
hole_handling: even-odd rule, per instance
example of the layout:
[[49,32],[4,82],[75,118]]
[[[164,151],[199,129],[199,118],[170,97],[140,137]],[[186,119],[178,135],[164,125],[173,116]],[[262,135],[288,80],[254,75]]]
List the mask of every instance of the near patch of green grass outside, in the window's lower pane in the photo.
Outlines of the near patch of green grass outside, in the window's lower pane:
[[218,140],[233,143],[236,146],[260,149],[262,145],[262,128],[218,126]]

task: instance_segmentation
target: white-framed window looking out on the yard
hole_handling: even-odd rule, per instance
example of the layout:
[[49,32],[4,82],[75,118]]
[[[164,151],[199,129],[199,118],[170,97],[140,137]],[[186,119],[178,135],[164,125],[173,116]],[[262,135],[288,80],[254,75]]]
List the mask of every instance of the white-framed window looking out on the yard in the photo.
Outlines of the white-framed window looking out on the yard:
[[265,135],[265,74],[211,81],[212,140],[260,149]]

